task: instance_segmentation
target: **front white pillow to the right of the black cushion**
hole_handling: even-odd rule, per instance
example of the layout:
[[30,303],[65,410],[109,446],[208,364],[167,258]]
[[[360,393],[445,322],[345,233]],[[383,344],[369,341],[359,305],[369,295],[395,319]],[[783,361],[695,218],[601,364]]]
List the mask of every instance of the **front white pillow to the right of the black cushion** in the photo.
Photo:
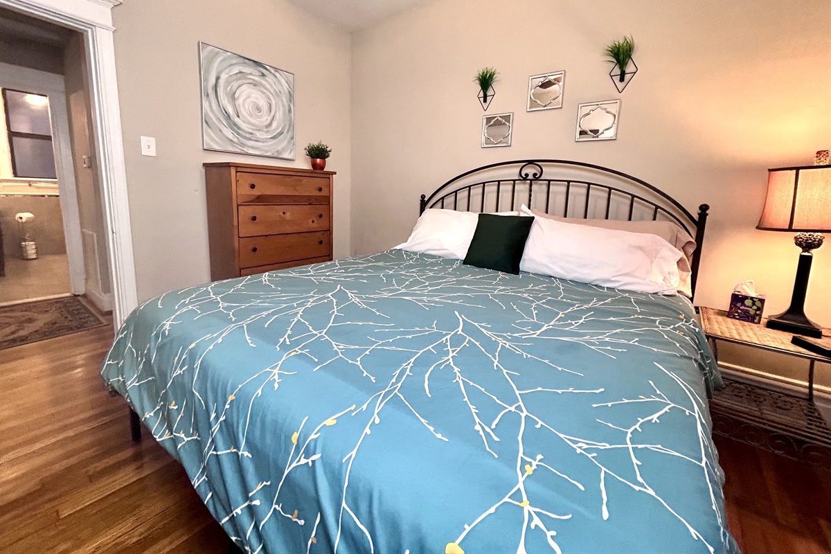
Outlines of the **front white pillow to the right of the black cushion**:
[[[523,215],[534,215],[525,206]],[[519,268],[627,291],[676,293],[684,254],[646,233],[534,218]]]

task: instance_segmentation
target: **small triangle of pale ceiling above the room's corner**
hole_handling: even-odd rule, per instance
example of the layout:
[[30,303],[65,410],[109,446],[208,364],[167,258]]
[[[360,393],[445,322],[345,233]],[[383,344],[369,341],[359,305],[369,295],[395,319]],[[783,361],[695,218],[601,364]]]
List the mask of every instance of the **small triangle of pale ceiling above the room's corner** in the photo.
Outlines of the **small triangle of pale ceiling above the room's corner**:
[[288,0],[323,21],[359,31],[432,0]]

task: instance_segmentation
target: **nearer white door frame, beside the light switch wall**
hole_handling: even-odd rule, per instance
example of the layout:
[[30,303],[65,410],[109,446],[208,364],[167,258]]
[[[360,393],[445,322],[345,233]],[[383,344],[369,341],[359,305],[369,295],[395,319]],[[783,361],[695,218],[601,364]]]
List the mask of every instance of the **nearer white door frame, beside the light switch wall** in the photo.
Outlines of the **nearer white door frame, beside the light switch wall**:
[[92,135],[101,183],[116,328],[138,304],[111,9],[121,0],[0,0],[0,6],[81,32],[90,76]]

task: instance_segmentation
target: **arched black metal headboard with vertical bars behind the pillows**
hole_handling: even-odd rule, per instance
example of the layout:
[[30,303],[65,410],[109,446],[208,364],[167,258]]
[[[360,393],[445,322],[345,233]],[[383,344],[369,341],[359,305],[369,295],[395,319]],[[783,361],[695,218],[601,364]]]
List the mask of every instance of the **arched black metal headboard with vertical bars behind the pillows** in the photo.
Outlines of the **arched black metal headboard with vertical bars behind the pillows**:
[[[489,174],[498,174],[500,168],[510,166],[519,166],[516,176],[489,177]],[[553,171],[570,171],[575,175],[543,178],[543,166]],[[584,178],[579,173],[585,173],[588,177]],[[608,183],[588,180],[597,176],[606,179]],[[541,196],[544,207],[539,201]],[[506,205],[508,201],[509,205]],[[633,215],[637,215],[640,217],[634,220],[651,217],[656,221],[660,216],[661,219],[677,223],[696,240],[696,251],[693,252],[691,260],[691,289],[695,294],[698,267],[701,263],[701,246],[704,244],[704,230],[710,206],[701,204],[696,218],[676,199],[656,189],[652,184],[617,169],[567,159],[517,159],[483,165],[455,176],[435,189],[429,197],[422,194],[420,213],[426,208],[479,213],[484,212],[486,208],[489,211],[493,208],[494,212],[499,212],[499,208],[513,211],[519,209],[521,203],[537,209],[544,208],[545,213],[557,211],[557,215],[569,218],[625,218],[627,221],[633,221]],[[613,212],[612,207],[615,208]]]

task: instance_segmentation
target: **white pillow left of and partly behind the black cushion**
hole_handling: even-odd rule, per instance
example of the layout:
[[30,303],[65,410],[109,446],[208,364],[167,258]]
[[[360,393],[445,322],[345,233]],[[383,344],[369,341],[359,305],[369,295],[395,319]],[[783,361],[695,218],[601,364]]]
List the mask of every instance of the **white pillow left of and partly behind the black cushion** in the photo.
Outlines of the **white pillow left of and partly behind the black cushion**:
[[[498,212],[497,215],[519,215],[519,212]],[[464,260],[477,223],[479,213],[425,209],[407,242],[394,248]]]

